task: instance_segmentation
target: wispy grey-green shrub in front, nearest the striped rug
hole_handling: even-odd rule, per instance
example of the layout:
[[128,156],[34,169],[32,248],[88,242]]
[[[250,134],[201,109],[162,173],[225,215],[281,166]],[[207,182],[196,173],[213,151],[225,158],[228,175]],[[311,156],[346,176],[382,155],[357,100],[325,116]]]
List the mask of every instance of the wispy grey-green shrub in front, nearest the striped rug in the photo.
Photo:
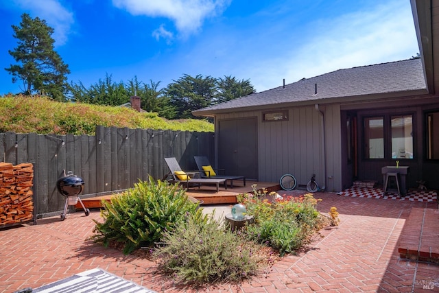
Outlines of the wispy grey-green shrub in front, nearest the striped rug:
[[154,252],[159,268],[182,283],[241,281],[257,274],[262,259],[256,253],[261,246],[219,224],[213,215],[206,222],[188,215],[165,232],[163,241]]

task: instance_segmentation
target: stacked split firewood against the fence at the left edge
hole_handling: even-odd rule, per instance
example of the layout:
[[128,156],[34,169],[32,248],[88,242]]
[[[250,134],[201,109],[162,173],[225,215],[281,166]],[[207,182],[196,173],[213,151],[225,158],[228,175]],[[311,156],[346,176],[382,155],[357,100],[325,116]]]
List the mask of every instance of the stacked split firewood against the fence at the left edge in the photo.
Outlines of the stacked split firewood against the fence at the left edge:
[[33,218],[34,167],[31,163],[0,163],[0,228]]

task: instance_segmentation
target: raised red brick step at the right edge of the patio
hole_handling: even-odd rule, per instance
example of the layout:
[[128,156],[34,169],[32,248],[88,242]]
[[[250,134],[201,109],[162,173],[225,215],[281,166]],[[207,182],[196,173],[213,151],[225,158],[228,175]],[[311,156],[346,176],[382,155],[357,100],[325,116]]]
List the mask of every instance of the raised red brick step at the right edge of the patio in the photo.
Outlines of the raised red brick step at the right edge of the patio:
[[439,263],[439,210],[414,208],[398,244],[401,259]]

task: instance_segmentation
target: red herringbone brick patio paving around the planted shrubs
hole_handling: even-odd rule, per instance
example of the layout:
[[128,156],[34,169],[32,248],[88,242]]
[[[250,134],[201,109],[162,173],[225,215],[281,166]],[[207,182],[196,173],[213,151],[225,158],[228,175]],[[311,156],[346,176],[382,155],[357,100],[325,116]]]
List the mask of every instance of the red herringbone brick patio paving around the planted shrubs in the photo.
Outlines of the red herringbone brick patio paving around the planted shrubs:
[[[283,194],[285,192],[279,192]],[[439,292],[439,266],[401,259],[398,242],[410,211],[436,202],[351,198],[318,193],[318,209],[340,212],[340,225],[322,231],[306,253],[289,255],[240,285],[192,290],[156,274],[155,263],[86,240],[99,211],[38,220],[0,230],[0,292],[36,288],[102,268],[156,292]],[[436,219],[439,220],[439,219]],[[436,231],[436,237],[439,231]]]

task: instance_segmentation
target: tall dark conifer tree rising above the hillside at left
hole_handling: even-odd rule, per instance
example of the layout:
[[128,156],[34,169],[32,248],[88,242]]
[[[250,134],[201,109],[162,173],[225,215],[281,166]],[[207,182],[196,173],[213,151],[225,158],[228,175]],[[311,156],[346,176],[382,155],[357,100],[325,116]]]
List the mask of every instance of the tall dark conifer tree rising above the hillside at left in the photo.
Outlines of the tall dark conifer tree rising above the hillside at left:
[[21,15],[20,25],[12,25],[12,29],[18,46],[9,54],[18,64],[5,68],[12,75],[12,82],[22,80],[25,95],[38,93],[64,100],[70,71],[54,50],[54,29],[45,20],[32,19],[27,13]]

